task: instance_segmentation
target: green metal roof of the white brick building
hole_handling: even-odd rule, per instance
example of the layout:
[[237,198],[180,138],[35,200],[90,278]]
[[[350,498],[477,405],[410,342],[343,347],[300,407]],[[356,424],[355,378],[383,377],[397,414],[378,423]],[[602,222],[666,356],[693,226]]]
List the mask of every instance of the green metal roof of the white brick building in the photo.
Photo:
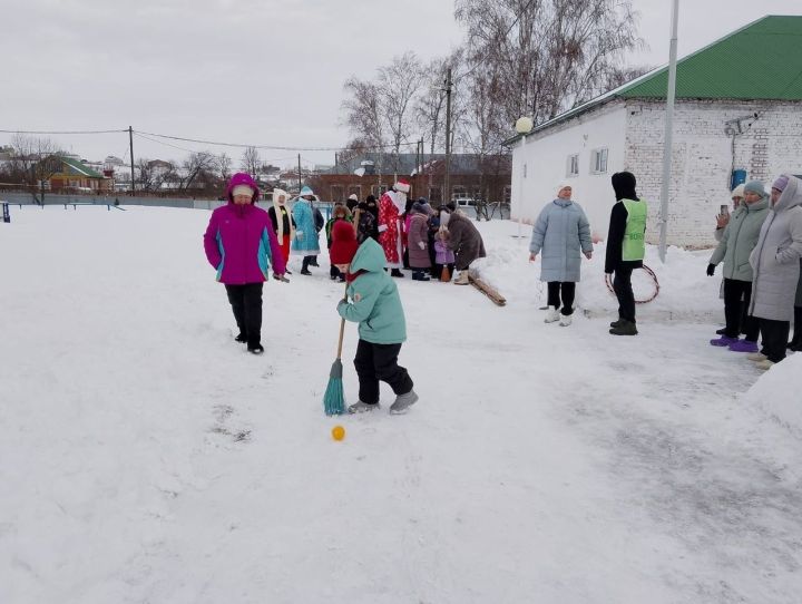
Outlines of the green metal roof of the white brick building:
[[[667,86],[664,67],[616,96],[665,98]],[[763,17],[677,61],[676,97],[802,99],[802,17]]]

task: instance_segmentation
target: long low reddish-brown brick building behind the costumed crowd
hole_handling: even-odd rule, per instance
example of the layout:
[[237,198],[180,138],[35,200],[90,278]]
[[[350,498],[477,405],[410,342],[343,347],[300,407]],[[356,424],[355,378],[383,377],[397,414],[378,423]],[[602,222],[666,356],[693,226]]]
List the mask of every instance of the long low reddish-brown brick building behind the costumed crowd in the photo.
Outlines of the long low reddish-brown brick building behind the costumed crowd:
[[410,185],[410,197],[426,197],[439,205],[448,201],[481,199],[485,202],[509,202],[510,156],[481,156],[454,154],[449,169],[448,194],[443,191],[446,156],[408,153],[389,155],[366,153],[338,163],[330,171],[314,177],[317,193],[323,199],[341,202],[351,194],[360,199],[368,195],[379,197],[399,177],[405,177]]

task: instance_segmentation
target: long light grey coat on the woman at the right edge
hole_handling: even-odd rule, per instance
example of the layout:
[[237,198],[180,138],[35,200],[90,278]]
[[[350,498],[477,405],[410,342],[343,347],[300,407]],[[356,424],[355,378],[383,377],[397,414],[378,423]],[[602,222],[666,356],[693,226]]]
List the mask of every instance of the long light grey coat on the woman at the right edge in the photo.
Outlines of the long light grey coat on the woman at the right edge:
[[754,269],[749,313],[774,321],[792,321],[802,257],[802,181],[789,177],[769,211],[750,263]]

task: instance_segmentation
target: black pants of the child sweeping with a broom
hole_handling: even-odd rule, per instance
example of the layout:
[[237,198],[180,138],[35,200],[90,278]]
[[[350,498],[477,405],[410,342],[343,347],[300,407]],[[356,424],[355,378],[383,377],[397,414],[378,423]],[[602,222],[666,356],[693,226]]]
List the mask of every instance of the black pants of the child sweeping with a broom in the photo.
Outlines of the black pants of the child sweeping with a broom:
[[372,344],[360,338],[354,367],[360,380],[360,400],[368,405],[379,402],[379,380],[385,381],[395,394],[412,390],[412,379],[398,364],[401,344]]

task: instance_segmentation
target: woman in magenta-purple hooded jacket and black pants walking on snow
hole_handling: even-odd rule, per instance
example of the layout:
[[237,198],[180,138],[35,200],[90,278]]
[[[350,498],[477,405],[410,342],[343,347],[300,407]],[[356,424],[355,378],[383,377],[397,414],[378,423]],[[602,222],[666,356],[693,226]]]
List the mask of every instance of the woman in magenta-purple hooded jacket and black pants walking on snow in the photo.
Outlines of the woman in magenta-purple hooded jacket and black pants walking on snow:
[[226,188],[228,203],[212,213],[204,234],[209,264],[225,284],[228,302],[248,352],[262,354],[262,285],[273,273],[284,276],[284,256],[267,212],[256,207],[260,191],[253,178],[238,173]]

